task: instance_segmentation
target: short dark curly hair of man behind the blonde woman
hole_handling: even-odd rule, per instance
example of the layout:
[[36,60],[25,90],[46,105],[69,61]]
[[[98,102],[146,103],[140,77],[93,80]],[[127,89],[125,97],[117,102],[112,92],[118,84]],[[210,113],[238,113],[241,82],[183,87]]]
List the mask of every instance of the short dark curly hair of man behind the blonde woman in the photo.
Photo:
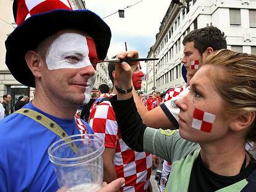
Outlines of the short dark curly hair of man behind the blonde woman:
[[186,45],[186,43],[191,41],[194,41],[194,47],[198,49],[200,54],[203,54],[208,47],[213,48],[213,51],[227,48],[224,32],[213,26],[191,31],[185,36],[182,44]]

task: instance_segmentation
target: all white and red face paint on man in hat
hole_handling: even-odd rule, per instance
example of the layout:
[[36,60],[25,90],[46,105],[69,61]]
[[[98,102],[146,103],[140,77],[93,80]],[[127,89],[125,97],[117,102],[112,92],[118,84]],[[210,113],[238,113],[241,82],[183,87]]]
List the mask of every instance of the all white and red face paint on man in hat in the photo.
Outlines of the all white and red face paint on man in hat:
[[[92,59],[92,62],[90,61]],[[92,38],[77,33],[64,33],[53,41],[46,54],[49,70],[80,69],[92,65],[96,70],[98,56]],[[90,101],[90,94],[96,80],[96,74],[88,78],[83,103]]]

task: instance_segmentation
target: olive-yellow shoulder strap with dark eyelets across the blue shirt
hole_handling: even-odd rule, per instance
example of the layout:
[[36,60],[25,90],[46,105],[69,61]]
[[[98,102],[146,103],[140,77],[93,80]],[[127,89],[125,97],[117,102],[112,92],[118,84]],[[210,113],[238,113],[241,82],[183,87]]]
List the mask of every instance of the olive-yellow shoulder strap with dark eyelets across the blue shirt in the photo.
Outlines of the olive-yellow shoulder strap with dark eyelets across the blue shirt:
[[[31,119],[35,120],[36,122],[40,123],[41,125],[45,126],[49,130],[53,131],[56,135],[58,135],[60,138],[64,138],[67,135],[66,131],[64,131],[56,122],[49,119],[45,115],[41,114],[40,112],[34,111],[33,109],[27,109],[22,108],[18,111],[15,111],[14,113],[22,114],[27,117],[30,117]],[[66,139],[65,142],[71,141],[70,138]],[[69,144],[70,148],[73,149],[75,154],[78,152],[78,148],[75,144]]]

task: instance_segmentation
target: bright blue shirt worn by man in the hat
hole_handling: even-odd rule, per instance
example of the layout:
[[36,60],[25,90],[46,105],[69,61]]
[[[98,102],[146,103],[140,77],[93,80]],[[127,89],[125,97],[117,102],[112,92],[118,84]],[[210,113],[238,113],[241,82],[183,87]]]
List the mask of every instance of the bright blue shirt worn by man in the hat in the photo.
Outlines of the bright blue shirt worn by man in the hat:
[[[46,115],[68,135],[80,134],[75,119],[59,119],[30,102],[24,106]],[[88,127],[88,126],[87,126]],[[89,129],[89,133],[93,133]],[[57,191],[48,148],[59,136],[22,114],[0,120],[0,191]]]

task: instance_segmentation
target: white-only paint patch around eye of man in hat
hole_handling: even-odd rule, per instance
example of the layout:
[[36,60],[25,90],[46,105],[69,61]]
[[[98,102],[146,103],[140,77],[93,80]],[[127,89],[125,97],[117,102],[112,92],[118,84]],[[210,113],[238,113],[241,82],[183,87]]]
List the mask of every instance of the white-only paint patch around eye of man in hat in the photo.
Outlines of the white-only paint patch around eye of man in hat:
[[92,65],[88,54],[85,36],[77,33],[64,33],[49,46],[46,53],[46,65],[49,70],[79,69]]

